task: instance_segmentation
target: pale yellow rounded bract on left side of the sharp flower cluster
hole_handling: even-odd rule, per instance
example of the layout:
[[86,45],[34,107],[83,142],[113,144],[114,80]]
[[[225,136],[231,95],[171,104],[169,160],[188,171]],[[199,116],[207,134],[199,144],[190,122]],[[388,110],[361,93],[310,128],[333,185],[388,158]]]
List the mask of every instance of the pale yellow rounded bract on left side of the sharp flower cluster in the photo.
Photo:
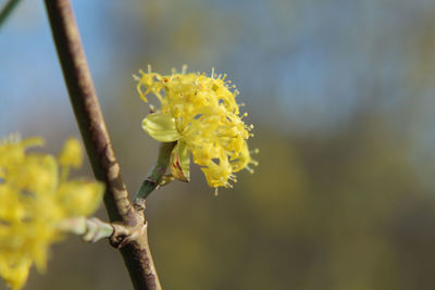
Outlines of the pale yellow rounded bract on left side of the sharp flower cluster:
[[160,142],[173,142],[182,137],[176,129],[175,119],[160,112],[149,114],[144,118],[142,128]]

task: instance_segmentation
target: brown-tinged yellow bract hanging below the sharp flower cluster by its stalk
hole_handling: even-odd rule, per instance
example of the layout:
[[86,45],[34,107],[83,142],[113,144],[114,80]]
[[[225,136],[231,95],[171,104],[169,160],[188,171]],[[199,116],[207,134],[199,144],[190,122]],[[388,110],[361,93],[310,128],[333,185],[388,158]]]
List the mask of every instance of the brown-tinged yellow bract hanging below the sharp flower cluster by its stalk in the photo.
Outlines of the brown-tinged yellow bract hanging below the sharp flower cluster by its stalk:
[[171,173],[185,182],[190,181],[190,157],[184,142],[178,142],[171,152]]

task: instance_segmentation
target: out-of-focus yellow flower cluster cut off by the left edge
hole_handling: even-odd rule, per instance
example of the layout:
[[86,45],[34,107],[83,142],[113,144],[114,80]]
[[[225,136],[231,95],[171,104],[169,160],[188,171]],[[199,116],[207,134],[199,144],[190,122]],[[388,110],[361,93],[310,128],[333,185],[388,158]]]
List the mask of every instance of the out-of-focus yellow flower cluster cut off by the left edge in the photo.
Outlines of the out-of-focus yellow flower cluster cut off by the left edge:
[[12,289],[24,286],[33,263],[45,270],[48,247],[62,238],[59,224],[92,213],[103,193],[99,182],[66,180],[70,167],[82,164],[77,140],[69,139],[59,159],[25,152],[42,143],[0,141],[0,276]]

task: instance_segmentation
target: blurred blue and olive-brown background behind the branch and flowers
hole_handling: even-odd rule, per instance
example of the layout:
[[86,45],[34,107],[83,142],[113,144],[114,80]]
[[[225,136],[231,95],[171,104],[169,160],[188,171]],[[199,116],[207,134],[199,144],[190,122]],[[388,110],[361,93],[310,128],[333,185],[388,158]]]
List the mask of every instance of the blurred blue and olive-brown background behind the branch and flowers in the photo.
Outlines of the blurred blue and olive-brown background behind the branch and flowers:
[[[72,2],[130,192],[158,150],[139,68],[214,66],[256,126],[260,166],[234,189],[214,197],[194,166],[150,196],[164,289],[435,289],[434,1]],[[12,131],[52,153],[79,136],[42,1],[0,28],[0,136]],[[89,164],[76,175],[92,178]],[[129,288],[107,242],[70,237],[25,289]]]

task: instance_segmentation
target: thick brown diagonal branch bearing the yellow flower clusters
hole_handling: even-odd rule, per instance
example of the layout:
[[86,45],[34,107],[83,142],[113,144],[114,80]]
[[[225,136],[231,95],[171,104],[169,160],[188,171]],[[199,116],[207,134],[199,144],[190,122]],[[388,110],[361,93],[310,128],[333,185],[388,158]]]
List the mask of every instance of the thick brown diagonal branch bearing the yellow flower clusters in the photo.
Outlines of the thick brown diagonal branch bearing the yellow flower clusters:
[[46,0],[51,31],[62,65],[70,100],[98,180],[107,186],[104,203],[111,222],[132,229],[120,248],[135,289],[161,289],[148,247],[147,223],[135,211],[121,177],[105,123],[87,66],[70,0]]

